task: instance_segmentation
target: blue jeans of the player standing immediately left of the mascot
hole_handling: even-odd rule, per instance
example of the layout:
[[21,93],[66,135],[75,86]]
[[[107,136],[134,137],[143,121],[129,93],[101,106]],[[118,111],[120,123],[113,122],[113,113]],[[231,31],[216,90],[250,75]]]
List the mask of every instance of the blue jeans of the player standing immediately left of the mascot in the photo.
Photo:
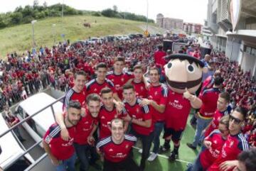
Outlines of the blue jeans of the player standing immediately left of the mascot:
[[154,148],[153,148],[153,153],[158,153],[159,152],[159,146],[160,146],[160,134],[161,131],[164,128],[164,122],[156,122],[154,124]]

